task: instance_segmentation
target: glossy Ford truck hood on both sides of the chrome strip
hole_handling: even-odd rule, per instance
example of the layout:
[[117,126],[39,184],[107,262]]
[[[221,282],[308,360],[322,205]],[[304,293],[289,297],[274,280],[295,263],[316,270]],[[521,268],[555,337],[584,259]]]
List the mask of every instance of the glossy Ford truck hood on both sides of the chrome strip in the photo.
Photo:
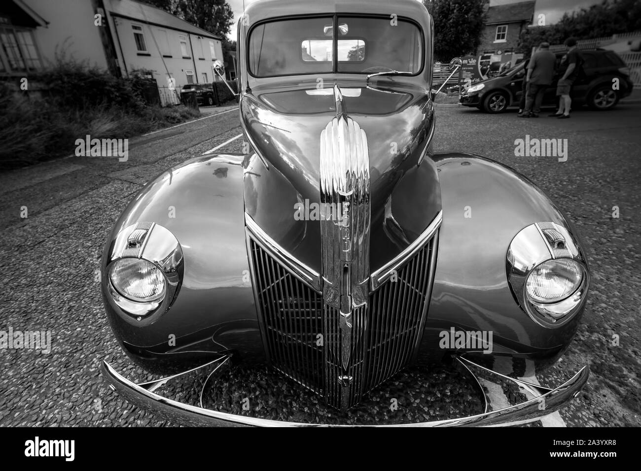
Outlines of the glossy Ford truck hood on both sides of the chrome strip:
[[[293,215],[297,203],[320,201],[320,133],[337,116],[334,85],[278,83],[256,88],[240,101],[242,126],[257,154],[246,169],[246,211],[312,268],[320,265],[319,221]],[[396,78],[378,78],[376,87],[365,85],[364,78],[337,85],[343,112],[367,135],[370,268],[375,270],[411,244],[440,210],[435,166],[422,159],[434,108],[428,90]],[[420,169],[419,161],[424,161]],[[399,189],[401,179],[407,185]]]

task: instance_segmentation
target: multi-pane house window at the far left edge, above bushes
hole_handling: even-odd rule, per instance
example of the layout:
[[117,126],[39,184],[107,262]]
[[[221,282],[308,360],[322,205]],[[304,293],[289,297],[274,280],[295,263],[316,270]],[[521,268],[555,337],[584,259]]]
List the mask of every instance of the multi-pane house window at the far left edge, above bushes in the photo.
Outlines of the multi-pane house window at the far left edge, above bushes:
[[[28,29],[0,28],[0,70],[33,70],[42,68],[33,33]],[[3,61],[6,60],[6,63]]]

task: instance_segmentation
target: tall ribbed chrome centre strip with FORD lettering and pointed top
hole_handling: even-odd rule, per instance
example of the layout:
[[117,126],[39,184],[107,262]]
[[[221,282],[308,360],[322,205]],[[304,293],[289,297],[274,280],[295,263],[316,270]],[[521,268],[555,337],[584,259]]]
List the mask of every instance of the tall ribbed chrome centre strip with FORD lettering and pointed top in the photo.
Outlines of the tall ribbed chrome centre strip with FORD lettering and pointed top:
[[[347,116],[338,85],[334,99],[336,117],[320,133],[323,301],[332,333],[326,354],[349,377],[354,351],[362,348],[369,299],[369,151],[365,131]],[[340,383],[348,393],[349,381]]]

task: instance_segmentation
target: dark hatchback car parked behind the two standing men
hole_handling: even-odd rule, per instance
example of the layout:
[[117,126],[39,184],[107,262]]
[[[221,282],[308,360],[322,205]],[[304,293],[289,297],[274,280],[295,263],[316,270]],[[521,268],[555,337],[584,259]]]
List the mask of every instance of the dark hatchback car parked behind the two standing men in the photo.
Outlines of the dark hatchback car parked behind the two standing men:
[[[557,65],[565,53],[556,53]],[[613,51],[581,51],[585,74],[572,87],[572,106],[587,104],[593,110],[610,110],[619,100],[632,93],[633,83],[626,63]],[[524,62],[499,76],[474,83],[460,95],[459,104],[476,106],[488,113],[502,113],[508,106],[519,104],[526,71]],[[556,106],[556,82],[547,88],[543,106]],[[619,90],[613,90],[613,79],[619,79]]]

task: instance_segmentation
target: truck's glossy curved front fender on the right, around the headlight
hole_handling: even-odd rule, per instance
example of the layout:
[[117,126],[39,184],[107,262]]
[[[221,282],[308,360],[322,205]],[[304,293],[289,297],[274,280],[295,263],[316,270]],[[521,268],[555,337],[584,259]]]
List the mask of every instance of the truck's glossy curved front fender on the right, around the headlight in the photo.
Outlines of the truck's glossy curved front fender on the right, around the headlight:
[[572,226],[540,188],[500,163],[463,153],[433,154],[433,159],[443,222],[423,351],[438,353],[439,335],[451,327],[480,330],[492,332],[494,343],[492,354],[481,357],[508,357],[506,368],[492,367],[510,370],[510,357],[547,366],[574,336],[583,306],[563,327],[539,326],[515,302],[506,276],[506,253],[513,237],[530,224]]

